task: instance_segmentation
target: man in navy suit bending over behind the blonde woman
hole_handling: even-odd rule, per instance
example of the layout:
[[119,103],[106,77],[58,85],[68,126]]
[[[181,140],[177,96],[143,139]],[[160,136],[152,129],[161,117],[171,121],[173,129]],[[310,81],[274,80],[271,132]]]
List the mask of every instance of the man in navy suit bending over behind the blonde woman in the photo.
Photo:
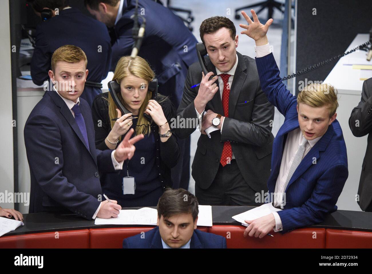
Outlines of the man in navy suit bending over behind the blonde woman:
[[[132,28],[135,0],[84,0],[88,11],[112,31],[112,66],[130,55],[134,43]],[[170,96],[179,106],[188,67],[196,62],[198,42],[182,20],[166,7],[138,0],[138,13],[146,19],[145,34],[138,56],[150,64],[159,83],[159,93]],[[142,19],[139,18],[140,24]],[[190,178],[190,138],[179,140],[181,157],[172,169],[174,188],[188,188]]]

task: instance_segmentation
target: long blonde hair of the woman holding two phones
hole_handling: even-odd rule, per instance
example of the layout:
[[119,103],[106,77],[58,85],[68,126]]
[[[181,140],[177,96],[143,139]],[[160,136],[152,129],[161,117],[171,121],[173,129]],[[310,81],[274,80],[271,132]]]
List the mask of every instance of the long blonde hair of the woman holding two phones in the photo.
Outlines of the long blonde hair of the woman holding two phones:
[[[136,56],[134,59],[131,59],[130,56],[123,56],[119,59],[118,63],[115,67],[115,72],[112,80],[116,80],[118,84],[120,85],[121,81],[130,74],[137,76],[139,78],[144,79],[147,81],[147,84],[154,79],[155,73],[150,68],[150,65],[146,62],[145,59],[143,59],[140,56]],[[140,110],[138,111],[138,120],[137,120],[137,126],[135,129],[135,135],[138,134],[148,134],[150,135],[150,122],[143,116],[144,111],[146,110],[146,107],[148,105],[148,100],[151,99],[152,92],[148,91],[145,97],[145,100],[143,101]],[[121,96],[121,91],[118,92],[118,97],[120,98],[121,102],[124,104],[124,100]],[[111,94],[109,93],[109,116],[111,121],[111,129],[115,125],[115,121],[112,121],[112,119],[118,117],[118,112],[116,111],[116,108],[118,108],[114,102],[114,100],[111,97]],[[122,113],[124,115],[124,113]],[[141,126],[142,125],[142,126]],[[119,138],[120,139],[120,138]]]

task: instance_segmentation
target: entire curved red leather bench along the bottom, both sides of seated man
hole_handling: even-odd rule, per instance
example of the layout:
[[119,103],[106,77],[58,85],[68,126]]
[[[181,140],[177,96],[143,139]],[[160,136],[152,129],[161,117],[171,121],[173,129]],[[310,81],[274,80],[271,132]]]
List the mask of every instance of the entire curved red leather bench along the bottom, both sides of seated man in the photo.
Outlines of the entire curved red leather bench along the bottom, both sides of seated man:
[[[123,239],[153,227],[113,227],[0,237],[0,248],[121,248]],[[198,227],[226,237],[227,248],[372,248],[372,232],[337,229],[295,229],[262,239],[244,237],[244,226]]]

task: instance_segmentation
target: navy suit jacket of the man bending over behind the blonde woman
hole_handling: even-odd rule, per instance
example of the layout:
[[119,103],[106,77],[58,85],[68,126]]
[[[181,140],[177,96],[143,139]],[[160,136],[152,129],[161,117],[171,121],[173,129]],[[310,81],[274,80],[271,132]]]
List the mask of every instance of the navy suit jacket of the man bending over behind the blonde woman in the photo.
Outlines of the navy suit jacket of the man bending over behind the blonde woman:
[[[124,0],[122,17],[114,27],[112,66],[122,56],[130,55],[135,0]],[[195,45],[198,42],[182,20],[159,3],[138,0],[138,13],[146,19],[145,34],[138,56],[146,59],[159,81],[159,92],[172,95],[178,107],[182,99],[188,67],[198,61]],[[142,19],[139,20],[142,22]],[[197,83],[196,83],[197,84]]]

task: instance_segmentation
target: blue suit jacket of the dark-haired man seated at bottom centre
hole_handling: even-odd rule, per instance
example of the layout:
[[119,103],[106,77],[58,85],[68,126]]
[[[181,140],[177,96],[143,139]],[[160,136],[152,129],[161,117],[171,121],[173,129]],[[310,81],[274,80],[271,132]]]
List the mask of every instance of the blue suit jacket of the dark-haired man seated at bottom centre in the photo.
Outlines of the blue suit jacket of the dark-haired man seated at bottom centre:
[[[128,237],[123,241],[123,248],[163,248],[159,227],[155,227],[148,232]],[[191,237],[190,248],[226,248],[226,239],[222,236],[202,232],[194,229]]]

